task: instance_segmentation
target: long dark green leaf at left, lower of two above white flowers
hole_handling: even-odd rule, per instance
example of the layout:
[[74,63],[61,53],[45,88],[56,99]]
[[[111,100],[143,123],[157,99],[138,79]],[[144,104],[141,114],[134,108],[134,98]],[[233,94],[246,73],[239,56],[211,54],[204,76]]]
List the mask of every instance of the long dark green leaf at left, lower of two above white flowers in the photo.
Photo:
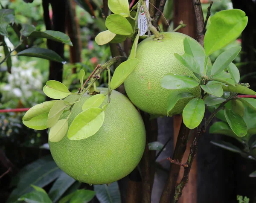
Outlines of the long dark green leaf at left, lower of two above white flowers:
[[40,47],[31,47],[21,52],[18,52],[16,55],[44,58],[49,61],[56,61],[60,63],[65,62],[56,52],[52,51],[51,49],[44,49]]

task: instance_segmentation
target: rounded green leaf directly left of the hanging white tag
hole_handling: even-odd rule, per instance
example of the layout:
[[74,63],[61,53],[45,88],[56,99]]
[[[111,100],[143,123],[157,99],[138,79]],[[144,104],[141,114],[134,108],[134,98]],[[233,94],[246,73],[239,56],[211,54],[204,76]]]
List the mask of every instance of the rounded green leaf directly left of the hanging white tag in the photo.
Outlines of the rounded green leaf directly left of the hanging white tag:
[[129,21],[119,14],[111,14],[106,19],[106,27],[118,35],[131,35],[133,29]]

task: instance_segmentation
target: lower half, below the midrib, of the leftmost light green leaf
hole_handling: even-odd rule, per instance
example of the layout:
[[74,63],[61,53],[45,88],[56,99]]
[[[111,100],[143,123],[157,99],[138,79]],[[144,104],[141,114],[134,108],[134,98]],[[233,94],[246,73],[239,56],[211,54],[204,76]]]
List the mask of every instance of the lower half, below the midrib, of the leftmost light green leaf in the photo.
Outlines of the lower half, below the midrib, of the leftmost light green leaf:
[[23,120],[23,124],[26,125],[28,128],[32,128],[35,130],[44,130],[47,129],[47,119],[48,119],[48,113],[42,113],[38,116],[33,117],[32,119],[25,121]]

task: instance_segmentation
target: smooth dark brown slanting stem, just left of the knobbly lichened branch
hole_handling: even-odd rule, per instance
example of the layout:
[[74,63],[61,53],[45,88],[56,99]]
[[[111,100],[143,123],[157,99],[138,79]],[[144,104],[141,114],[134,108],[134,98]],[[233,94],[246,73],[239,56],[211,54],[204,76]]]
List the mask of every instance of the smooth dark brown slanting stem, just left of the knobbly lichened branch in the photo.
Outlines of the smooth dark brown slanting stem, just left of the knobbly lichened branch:
[[[186,125],[182,122],[172,159],[176,159],[178,162],[181,162],[184,152],[186,151],[186,143],[187,143],[188,137],[189,137],[189,128],[187,128]],[[169,203],[170,199],[174,196],[175,184],[177,182],[179,171],[180,171],[180,165],[171,163],[169,177],[164,186],[163,193],[160,198],[160,203]]]

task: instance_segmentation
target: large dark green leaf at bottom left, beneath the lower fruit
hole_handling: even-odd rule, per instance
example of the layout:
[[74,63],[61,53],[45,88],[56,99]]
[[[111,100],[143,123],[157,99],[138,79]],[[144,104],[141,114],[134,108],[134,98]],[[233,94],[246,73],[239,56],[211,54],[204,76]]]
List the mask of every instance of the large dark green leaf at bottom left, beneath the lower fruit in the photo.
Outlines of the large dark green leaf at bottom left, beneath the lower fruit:
[[17,186],[9,196],[7,203],[15,202],[21,195],[33,191],[31,184],[44,187],[61,174],[52,156],[46,156],[26,165],[12,178],[10,187]]

